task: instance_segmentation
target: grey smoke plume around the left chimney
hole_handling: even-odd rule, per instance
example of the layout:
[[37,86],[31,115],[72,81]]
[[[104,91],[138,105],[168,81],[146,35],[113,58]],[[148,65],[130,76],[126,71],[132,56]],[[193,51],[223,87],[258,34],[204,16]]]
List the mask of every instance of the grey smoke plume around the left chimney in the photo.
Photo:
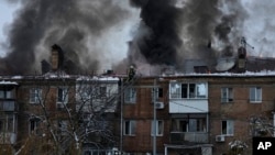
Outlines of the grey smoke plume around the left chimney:
[[96,70],[107,55],[106,40],[113,37],[110,31],[119,31],[116,27],[120,27],[123,22],[125,24],[131,14],[128,3],[120,0],[18,2],[22,7],[9,27],[8,53],[0,59],[1,74],[40,71],[40,63],[50,57],[54,44],[63,48],[65,62],[76,66],[67,66],[68,73]]

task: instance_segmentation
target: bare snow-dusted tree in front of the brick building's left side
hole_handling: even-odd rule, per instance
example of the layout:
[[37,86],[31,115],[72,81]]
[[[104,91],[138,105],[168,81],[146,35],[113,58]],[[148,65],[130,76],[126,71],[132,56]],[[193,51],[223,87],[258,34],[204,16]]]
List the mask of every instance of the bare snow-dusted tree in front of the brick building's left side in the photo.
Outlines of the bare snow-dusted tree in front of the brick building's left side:
[[[88,145],[108,148],[116,145],[113,114],[118,104],[118,78],[69,77],[40,80],[30,86],[25,111],[31,133],[16,154],[80,154]],[[109,117],[112,115],[112,117]],[[109,118],[108,118],[109,117]]]

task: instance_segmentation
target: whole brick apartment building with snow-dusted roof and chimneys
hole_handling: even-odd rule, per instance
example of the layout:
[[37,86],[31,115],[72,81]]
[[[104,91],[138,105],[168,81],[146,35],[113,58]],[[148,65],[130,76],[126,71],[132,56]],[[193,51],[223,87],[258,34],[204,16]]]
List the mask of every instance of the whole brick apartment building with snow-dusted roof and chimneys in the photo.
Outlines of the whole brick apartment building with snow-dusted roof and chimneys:
[[254,136],[274,136],[275,59],[245,46],[213,67],[131,77],[68,75],[56,47],[42,75],[0,77],[0,143],[12,153],[250,155]]

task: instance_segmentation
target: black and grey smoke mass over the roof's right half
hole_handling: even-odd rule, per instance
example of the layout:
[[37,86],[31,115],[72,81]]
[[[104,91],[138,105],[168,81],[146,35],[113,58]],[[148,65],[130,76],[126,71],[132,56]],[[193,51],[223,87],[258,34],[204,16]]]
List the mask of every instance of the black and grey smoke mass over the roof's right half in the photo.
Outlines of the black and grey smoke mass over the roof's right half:
[[[210,59],[213,64],[219,55],[232,56],[242,36],[238,27],[242,26],[245,11],[239,1],[131,0],[131,3],[141,8],[140,32],[130,47],[130,60],[138,66],[145,66],[145,62],[150,69],[163,65],[182,68],[185,59],[190,58]],[[143,64],[136,62],[136,53],[145,59]]]

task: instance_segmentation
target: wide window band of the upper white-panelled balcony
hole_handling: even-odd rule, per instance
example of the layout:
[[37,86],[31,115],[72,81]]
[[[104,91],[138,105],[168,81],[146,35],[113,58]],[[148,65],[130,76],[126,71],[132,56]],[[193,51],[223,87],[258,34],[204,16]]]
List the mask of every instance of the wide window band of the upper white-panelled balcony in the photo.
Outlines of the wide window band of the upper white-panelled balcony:
[[170,82],[170,98],[199,99],[207,98],[207,84],[179,84]]

